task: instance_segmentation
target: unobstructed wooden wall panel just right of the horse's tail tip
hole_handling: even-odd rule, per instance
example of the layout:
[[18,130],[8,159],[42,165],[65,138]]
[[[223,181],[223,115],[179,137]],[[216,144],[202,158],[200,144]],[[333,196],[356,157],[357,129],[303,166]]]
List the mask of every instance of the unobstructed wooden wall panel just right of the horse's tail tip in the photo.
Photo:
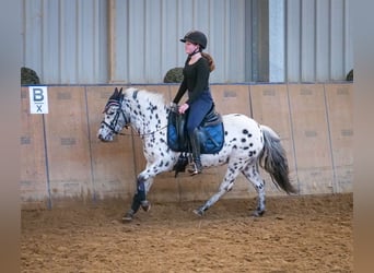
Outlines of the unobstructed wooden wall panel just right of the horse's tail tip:
[[332,192],[324,85],[290,84],[289,97],[300,193]]

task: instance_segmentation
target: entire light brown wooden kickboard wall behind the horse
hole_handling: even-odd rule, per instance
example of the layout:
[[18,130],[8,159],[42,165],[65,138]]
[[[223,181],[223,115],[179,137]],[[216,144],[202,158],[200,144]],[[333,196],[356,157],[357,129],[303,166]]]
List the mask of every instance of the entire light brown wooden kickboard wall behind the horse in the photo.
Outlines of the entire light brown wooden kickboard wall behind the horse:
[[[52,207],[69,201],[130,201],[144,167],[139,136],[128,129],[112,143],[96,138],[103,107],[117,85],[47,86],[49,112],[30,114],[28,86],[21,87],[21,180],[23,207]],[[120,86],[118,86],[120,87]],[[127,86],[124,86],[127,87]],[[137,85],[164,94],[178,85]],[[212,85],[217,110],[245,114],[271,127],[288,153],[290,176],[301,194],[351,192],[353,185],[353,88],[351,83]],[[149,199],[206,200],[226,167],[194,178],[164,173]],[[264,171],[262,171],[264,174]],[[284,194],[264,174],[267,194]],[[243,176],[224,198],[252,198]]]

